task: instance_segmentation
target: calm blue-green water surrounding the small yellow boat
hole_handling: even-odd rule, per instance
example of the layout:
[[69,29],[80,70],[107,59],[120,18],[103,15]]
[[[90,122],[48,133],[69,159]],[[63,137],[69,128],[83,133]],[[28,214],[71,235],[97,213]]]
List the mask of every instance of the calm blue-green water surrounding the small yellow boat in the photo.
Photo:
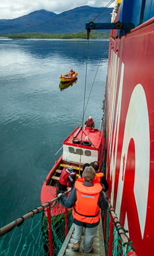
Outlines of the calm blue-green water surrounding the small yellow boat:
[[[90,41],[86,100],[104,44]],[[108,47],[85,114],[95,127],[103,115]],[[0,40],[0,226],[40,205],[55,152],[82,121],[87,48],[86,40]],[[78,80],[60,90],[59,75],[70,67]]]

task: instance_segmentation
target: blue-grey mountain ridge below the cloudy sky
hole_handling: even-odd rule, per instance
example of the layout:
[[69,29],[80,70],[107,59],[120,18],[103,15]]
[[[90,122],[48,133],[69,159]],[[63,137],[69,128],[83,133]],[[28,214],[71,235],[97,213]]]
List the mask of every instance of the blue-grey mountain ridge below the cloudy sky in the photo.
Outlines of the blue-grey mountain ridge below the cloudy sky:
[[[88,5],[56,14],[46,10],[38,10],[28,15],[9,20],[0,20],[0,34],[16,34],[27,32],[42,32],[49,34],[76,33],[85,30],[90,22],[103,9]],[[107,8],[97,22],[111,22],[113,8]]]

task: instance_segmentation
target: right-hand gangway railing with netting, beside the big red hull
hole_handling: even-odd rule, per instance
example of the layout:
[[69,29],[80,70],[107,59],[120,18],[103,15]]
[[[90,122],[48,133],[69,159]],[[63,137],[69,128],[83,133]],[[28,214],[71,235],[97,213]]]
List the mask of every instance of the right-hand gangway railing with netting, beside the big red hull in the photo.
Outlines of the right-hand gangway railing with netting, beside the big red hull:
[[110,203],[108,209],[102,212],[102,218],[106,255],[136,256],[128,230],[122,227]]

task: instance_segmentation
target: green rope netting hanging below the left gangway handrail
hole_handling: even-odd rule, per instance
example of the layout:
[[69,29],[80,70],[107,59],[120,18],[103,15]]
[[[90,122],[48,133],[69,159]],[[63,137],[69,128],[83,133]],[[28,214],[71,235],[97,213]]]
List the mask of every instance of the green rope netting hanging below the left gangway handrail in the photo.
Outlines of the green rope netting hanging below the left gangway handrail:
[[[67,227],[65,220],[65,209],[56,201],[51,206],[51,230],[53,255],[58,255],[65,239],[66,228],[70,230],[72,222],[70,216],[72,210],[67,210]],[[47,211],[38,212],[22,222],[22,225],[15,226],[0,238],[0,255],[49,255],[49,236]]]

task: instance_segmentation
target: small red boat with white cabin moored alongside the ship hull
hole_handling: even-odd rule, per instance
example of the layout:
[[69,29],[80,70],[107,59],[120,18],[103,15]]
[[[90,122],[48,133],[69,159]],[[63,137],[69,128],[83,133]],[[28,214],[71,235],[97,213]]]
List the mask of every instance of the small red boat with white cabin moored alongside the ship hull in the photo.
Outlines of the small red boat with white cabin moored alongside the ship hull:
[[82,172],[82,166],[86,163],[98,161],[101,168],[105,148],[103,130],[90,129],[85,125],[84,127],[76,127],[63,141],[62,148],[63,154],[58,160],[55,159],[55,164],[43,183],[41,189],[42,204],[57,196],[57,185],[64,167],[71,165],[77,178]]

